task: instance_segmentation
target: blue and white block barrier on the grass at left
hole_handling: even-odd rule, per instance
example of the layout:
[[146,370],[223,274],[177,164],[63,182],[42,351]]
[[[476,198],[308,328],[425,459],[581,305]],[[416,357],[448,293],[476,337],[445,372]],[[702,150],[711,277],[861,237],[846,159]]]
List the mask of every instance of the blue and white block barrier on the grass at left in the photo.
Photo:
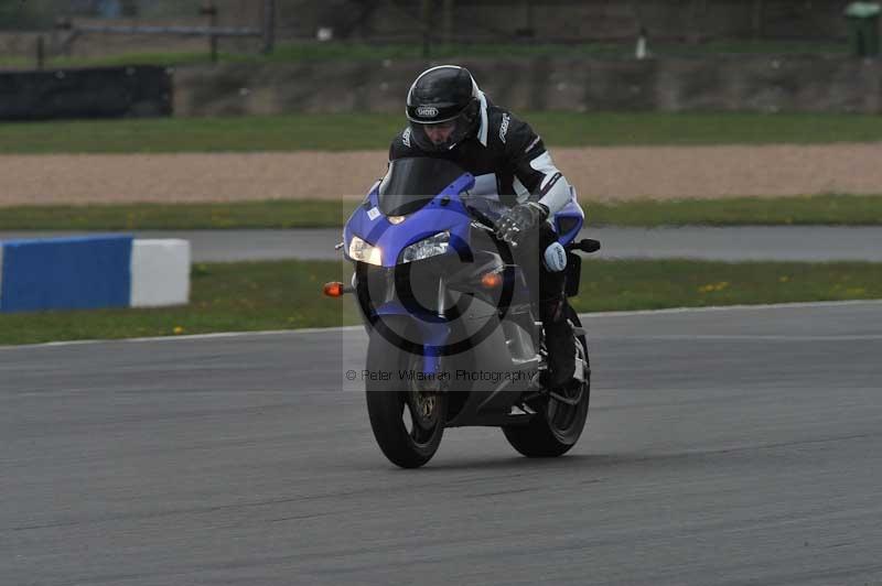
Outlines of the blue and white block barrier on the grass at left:
[[190,242],[130,236],[0,242],[0,312],[159,307],[190,300]]

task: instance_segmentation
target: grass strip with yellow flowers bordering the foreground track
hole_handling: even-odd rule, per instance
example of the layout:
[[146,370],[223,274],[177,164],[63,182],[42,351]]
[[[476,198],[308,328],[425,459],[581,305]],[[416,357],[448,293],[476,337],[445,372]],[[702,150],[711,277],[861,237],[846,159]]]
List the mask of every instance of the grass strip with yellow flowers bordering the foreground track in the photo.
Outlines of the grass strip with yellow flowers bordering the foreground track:
[[[353,297],[320,294],[348,274],[338,262],[195,264],[189,306],[0,314],[0,344],[352,325]],[[869,299],[882,299],[882,263],[587,260],[572,303],[600,312]]]

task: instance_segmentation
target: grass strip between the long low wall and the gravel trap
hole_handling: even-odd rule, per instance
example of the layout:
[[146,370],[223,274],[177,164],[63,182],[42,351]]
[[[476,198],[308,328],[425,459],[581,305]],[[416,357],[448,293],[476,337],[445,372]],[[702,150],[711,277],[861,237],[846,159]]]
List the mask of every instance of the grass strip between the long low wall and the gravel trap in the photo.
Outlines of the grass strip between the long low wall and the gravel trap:
[[[523,118],[550,146],[882,141],[882,117],[857,113],[547,111]],[[7,122],[0,123],[0,154],[385,150],[401,128],[398,113]]]

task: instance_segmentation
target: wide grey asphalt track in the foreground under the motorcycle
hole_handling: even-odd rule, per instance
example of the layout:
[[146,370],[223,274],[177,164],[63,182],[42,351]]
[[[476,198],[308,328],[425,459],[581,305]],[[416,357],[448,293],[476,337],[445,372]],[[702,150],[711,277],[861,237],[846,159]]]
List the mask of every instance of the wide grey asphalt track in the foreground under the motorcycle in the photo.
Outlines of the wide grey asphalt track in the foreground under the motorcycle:
[[882,303],[585,316],[553,460],[370,433],[359,328],[0,349],[0,583],[882,583]]

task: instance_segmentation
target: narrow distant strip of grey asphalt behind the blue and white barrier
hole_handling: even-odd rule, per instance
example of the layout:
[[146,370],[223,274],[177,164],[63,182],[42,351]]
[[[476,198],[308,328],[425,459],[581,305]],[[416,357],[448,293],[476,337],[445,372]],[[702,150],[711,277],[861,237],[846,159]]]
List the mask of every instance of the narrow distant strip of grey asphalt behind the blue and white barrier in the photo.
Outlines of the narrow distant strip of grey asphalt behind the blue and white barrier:
[[[83,232],[0,232],[0,240]],[[341,229],[137,231],[140,238],[190,240],[193,260],[237,261],[342,257]],[[692,258],[702,260],[858,260],[882,262],[882,228],[745,226],[731,228],[619,228],[583,230],[603,248],[598,258]]]

